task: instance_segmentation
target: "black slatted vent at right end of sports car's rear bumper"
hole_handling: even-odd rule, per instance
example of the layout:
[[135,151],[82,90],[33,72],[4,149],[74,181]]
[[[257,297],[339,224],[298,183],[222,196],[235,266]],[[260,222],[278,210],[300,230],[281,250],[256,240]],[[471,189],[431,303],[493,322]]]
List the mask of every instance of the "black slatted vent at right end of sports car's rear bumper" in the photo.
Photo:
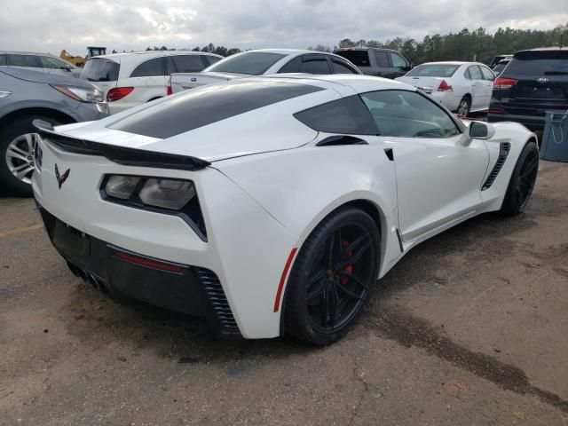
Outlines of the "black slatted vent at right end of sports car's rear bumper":
[[213,312],[219,322],[222,335],[241,335],[237,321],[233,317],[233,312],[229,306],[229,302],[223,291],[223,286],[213,271],[205,268],[195,268],[197,276],[201,280],[201,284],[205,289],[205,293],[209,298],[209,302],[213,308]]

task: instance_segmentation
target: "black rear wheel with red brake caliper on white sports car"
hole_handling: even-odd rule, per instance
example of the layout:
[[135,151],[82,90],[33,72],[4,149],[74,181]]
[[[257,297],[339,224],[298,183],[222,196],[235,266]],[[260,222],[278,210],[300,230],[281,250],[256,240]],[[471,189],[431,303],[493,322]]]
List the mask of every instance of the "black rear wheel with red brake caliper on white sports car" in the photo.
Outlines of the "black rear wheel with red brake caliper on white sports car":
[[343,337],[375,286],[380,241],[375,220],[362,209],[340,208],[323,219],[304,242],[288,278],[286,332],[313,344]]

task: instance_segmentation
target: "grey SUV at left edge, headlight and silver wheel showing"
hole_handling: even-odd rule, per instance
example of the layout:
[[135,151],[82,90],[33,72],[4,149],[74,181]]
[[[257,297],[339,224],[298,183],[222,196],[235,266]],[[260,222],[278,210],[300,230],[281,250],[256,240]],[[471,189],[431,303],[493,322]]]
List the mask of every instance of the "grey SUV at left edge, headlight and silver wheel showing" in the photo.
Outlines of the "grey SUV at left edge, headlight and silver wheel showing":
[[108,115],[103,92],[77,78],[0,67],[0,188],[32,194],[36,119],[53,125],[99,120]]

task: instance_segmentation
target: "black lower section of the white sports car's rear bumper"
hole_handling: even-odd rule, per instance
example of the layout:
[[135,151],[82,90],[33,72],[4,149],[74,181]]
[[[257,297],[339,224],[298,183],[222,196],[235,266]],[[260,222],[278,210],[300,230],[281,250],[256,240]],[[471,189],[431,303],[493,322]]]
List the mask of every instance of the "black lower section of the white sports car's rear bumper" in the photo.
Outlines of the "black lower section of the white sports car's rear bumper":
[[51,243],[76,276],[111,296],[204,317],[217,336],[241,335],[215,272],[115,247],[37,207]]

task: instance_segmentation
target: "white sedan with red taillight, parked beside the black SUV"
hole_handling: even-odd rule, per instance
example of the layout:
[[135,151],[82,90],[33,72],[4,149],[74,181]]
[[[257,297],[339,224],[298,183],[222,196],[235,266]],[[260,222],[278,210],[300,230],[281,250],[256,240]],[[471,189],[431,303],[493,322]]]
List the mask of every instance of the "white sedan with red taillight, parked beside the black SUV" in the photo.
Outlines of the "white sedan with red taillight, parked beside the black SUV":
[[495,75],[478,62],[429,62],[396,80],[412,84],[451,111],[467,116],[489,108]]

